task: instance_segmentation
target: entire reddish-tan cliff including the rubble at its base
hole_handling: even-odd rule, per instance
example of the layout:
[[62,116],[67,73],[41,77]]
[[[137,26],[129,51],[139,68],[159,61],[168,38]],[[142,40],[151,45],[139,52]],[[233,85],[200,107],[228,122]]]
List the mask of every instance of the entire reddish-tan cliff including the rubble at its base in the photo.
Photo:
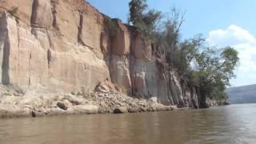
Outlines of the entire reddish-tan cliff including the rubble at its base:
[[0,116],[199,108],[165,53],[84,0],[0,0]]

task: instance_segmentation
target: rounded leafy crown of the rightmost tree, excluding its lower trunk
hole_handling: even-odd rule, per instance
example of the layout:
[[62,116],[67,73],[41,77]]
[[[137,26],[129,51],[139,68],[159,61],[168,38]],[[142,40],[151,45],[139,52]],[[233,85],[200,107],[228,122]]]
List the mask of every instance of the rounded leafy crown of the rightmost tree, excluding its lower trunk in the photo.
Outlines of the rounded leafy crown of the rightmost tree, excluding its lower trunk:
[[196,56],[195,74],[198,86],[204,87],[210,82],[223,82],[229,85],[233,78],[234,69],[238,64],[238,52],[230,46],[217,49],[207,47],[201,54]]

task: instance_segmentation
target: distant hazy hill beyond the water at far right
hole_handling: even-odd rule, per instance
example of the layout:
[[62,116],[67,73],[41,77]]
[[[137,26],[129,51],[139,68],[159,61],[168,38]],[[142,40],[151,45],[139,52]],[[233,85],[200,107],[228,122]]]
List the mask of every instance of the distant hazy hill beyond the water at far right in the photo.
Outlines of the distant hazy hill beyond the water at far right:
[[226,93],[230,103],[256,103],[256,85],[231,87]]

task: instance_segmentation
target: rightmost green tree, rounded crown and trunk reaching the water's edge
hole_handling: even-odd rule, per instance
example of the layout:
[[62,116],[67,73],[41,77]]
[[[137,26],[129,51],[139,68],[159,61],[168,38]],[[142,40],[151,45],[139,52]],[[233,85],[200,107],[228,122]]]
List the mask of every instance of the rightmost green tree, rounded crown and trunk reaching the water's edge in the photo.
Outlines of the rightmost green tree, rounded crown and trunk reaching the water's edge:
[[206,98],[226,98],[224,90],[230,85],[230,78],[235,77],[238,61],[238,51],[230,46],[207,47],[197,55],[193,82],[200,90],[201,106],[206,106]]

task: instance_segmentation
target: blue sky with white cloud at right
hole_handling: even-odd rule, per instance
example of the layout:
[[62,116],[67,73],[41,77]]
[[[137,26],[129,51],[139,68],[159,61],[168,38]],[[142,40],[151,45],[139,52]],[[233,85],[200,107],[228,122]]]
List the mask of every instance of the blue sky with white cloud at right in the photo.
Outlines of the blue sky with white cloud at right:
[[[88,0],[103,14],[127,22],[130,0]],[[255,0],[148,0],[150,8],[168,15],[172,7],[185,12],[182,39],[203,34],[211,46],[232,46],[240,58],[231,86],[256,83]]]

